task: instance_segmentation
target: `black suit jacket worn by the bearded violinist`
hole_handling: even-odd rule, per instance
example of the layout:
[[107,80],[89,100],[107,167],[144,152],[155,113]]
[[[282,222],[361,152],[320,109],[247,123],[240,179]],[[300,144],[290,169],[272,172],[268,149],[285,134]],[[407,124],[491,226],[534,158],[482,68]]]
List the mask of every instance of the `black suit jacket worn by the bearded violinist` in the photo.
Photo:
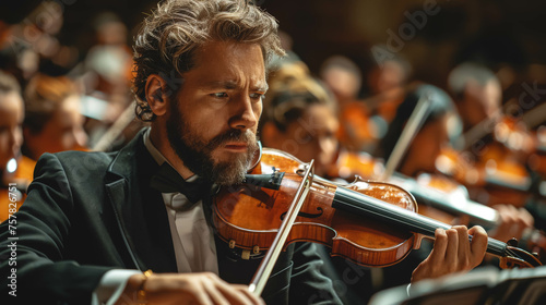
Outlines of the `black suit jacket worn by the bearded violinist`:
[[[67,151],[39,159],[28,197],[15,213],[15,234],[8,222],[0,224],[0,300],[9,302],[2,304],[90,304],[110,269],[177,271],[165,205],[150,187],[158,166],[142,138],[141,133],[118,152]],[[248,284],[260,261],[238,259],[216,241],[221,278]],[[262,297],[269,304],[339,303],[321,265],[314,245],[288,246]],[[16,297],[8,294],[12,268]]]

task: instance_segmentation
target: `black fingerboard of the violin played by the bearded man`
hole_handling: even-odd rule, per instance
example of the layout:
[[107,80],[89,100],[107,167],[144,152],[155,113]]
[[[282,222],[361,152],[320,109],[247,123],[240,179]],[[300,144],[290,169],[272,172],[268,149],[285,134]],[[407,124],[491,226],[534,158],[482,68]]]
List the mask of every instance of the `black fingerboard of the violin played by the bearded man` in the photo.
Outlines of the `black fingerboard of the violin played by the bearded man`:
[[[392,224],[402,230],[434,237],[436,229],[448,230],[450,224],[418,215],[414,211],[388,204],[380,199],[364,195],[361,193],[337,187],[332,207],[345,210],[361,217],[369,217],[383,223]],[[472,236],[470,236],[472,239]],[[507,245],[500,241],[489,239],[487,253],[505,257]]]

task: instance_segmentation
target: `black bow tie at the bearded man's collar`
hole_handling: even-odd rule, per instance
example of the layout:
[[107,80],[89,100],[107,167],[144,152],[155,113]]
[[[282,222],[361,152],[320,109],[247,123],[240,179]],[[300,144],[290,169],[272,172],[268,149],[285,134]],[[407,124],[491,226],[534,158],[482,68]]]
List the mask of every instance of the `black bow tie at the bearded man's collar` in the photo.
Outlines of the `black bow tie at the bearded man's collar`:
[[188,182],[168,162],[164,162],[152,176],[150,186],[162,193],[182,193],[190,203],[195,204],[211,192],[212,183],[200,176]]

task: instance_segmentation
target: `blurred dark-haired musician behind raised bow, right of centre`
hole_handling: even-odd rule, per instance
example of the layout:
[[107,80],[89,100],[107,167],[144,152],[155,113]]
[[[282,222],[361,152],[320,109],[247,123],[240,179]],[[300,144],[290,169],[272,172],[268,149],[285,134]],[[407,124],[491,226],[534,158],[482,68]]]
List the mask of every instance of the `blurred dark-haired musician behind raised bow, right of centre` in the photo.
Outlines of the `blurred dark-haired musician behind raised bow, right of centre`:
[[[389,160],[391,154],[399,141],[399,137],[406,126],[411,114],[416,108],[418,100],[428,95],[430,105],[423,119],[422,126],[417,130],[413,141],[408,144],[403,155],[396,172],[414,178],[417,181],[428,178],[434,183],[424,187],[435,187],[441,192],[458,192],[464,190],[452,179],[442,175],[436,169],[436,160],[442,150],[450,145],[450,138],[456,137],[461,126],[455,106],[449,95],[438,87],[431,85],[422,85],[416,90],[411,91],[396,110],[396,115],[389,125],[385,137],[381,141],[378,155],[384,160]],[[463,187],[463,188],[461,188]],[[459,188],[455,191],[455,188]],[[448,198],[448,195],[446,195]],[[456,203],[455,203],[456,204]],[[464,204],[464,203],[461,203]],[[425,208],[425,207],[424,207]],[[497,227],[488,232],[489,236],[499,241],[508,242],[510,239],[521,239],[525,230],[532,229],[534,224],[533,217],[523,208],[515,208],[512,205],[497,205],[494,207],[499,212]],[[420,206],[419,206],[419,212]],[[436,211],[425,215],[435,218]],[[453,218],[453,221],[464,221]],[[411,270],[426,255],[425,244],[422,249],[414,251],[401,264],[383,269],[383,279],[385,286],[402,284],[410,279],[404,279],[403,270]]]

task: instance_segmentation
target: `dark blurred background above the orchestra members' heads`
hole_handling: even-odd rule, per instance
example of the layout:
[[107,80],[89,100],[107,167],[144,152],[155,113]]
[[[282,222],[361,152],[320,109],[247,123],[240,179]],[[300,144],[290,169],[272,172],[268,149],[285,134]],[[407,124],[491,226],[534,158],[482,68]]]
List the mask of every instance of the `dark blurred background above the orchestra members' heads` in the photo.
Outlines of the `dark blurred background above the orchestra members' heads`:
[[[36,22],[28,14],[44,1],[7,1],[1,19],[9,23]],[[62,7],[61,45],[78,49],[79,58],[96,42],[93,25],[99,13],[112,12],[127,25],[129,45],[134,28],[157,1],[55,0]],[[391,34],[405,34],[397,56],[413,65],[413,76],[442,86],[458,62],[480,60],[498,70],[509,65],[524,73],[530,64],[546,63],[546,2],[544,1],[361,1],[258,0],[293,40],[294,51],[318,72],[331,54],[354,60],[366,74],[375,45],[388,44]],[[434,8],[417,28],[408,16]],[[41,16],[47,23],[47,14]],[[423,19],[419,20],[422,22]],[[413,26],[404,26],[404,24]],[[404,35],[403,34],[403,35]],[[391,40],[392,42],[392,40]]]

